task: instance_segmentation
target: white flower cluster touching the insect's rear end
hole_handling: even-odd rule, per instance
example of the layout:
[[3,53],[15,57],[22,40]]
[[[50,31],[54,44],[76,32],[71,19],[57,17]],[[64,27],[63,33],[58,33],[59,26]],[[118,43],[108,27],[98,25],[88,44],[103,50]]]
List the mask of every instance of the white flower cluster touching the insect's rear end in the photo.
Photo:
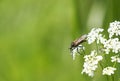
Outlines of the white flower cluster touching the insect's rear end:
[[88,44],[93,43],[95,40],[97,40],[97,43],[103,42],[103,37],[100,32],[103,32],[102,28],[93,28],[87,35]]

